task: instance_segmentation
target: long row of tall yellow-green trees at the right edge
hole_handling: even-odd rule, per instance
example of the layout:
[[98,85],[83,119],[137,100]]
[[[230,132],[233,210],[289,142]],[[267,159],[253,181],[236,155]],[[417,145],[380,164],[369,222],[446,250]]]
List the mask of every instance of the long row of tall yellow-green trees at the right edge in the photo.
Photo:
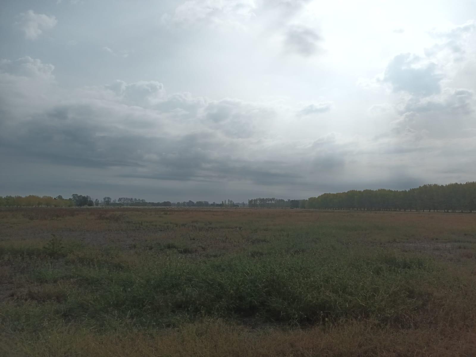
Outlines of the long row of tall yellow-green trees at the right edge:
[[309,198],[306,208],[473,212],[476,210],[476,182],[424,185],[403,191],[366,189],[325,193]]

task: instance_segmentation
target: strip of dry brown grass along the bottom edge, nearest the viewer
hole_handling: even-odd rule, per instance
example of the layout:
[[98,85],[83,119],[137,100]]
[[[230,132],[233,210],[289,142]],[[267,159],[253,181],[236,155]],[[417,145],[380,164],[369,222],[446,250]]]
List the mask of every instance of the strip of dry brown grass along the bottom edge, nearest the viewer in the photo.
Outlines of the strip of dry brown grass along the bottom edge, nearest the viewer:
[[[448,338],[448,333],[452,338]],[[248,329],[220,320],[185,324],[154,336],[94,334],[64,327],[35,341],[10,341],[9,356],[91,357],[315,357],[474,356],[476,331],[395,330],[370,321],[306,330]]]

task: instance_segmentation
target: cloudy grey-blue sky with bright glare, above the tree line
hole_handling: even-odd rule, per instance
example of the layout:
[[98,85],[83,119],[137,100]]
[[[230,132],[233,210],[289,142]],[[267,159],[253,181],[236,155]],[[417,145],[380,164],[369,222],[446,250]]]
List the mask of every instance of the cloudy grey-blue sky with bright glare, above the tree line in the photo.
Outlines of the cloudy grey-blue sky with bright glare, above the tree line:
[[476,180],[475,0],[3,0],[0,195]]

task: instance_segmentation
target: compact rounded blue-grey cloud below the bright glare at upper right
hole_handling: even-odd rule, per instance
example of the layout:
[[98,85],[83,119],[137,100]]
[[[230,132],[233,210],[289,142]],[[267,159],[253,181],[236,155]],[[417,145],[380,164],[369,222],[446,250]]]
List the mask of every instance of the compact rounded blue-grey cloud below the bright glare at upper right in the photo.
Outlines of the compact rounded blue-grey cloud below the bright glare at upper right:
[[383,82],[390,83],[394,92],[427,96],[441,91],[442,79],[443,75],[437,71],[435,63],[424,62],[418,56],[404,53],[390,61]]

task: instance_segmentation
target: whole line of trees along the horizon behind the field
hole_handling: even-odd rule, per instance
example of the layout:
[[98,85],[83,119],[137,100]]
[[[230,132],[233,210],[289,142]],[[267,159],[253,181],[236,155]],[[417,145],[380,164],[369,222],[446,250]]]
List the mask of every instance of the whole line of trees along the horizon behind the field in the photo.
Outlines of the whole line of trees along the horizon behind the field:
[[324,193],[308,199],[252,198],[248,203],[235,203],[228,199],[221,203],[208,201],[147,202],[141,198],[92,199],[88,195],[73,194],[71,198],[50,196],[0,196],[0,206],[47,206],[47,207],[250,207],[250,208],[308,208],[346,210],[415,210],[473,212],[476,211],[476,182],[450,183],[447,185],[423,185],[408,190],[350,190]]

